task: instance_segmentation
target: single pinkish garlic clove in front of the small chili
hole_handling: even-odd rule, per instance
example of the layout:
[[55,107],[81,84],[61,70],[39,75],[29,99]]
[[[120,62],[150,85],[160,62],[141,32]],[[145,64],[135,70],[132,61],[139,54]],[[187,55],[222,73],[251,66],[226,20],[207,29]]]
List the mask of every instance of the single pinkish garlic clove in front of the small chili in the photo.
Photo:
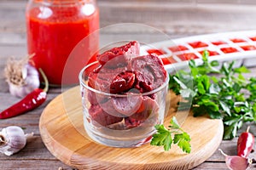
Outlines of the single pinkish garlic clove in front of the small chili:
[[[220,149],[219,149],[220,150]],[[246,170],[252,164],[252,160],[241,156],[228,156],[223,150],[220,150],[225,156],[225,162],[230,170]]]

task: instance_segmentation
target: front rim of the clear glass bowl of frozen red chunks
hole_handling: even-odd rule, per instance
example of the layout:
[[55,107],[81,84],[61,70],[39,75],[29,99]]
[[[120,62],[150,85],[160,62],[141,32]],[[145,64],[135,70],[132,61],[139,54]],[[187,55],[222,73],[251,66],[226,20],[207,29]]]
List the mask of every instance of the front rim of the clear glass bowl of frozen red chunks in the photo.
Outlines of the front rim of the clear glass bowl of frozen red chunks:
[[[89,68],[90,66],[92,65],[95,65],[97,64],[98,61],[95,61],[93,63],[90,63],[89,65],[85,65],[84,68],[79,72],[79,82],[80,82],[80,85],[82,85],[84,88],[87,88],[89,89],[90,91],[96,93],[96,94],[101,94],[101,95],[106,95],[106,96],[109,96],[109,97],[127,97],[127,94],[109,94],[107,92],[102,92],[100,90],[97,90],[95,88],[91,88],[90,86],[88,86],[85,82],[84,82],[84,71]],[[138,94],[135,94],[135,93],[132,93],[132,94],[129,94],[129,96],[146,96],[146,95],[151,95],[151,94],[155,94],[157,92],[160,92],[160,90],[162,90],[163,88],[166,87],[166,85],[168,85],[169,83],[169,75],[167,74],[166,76],[166,81],[159,87],[159,88],[155,88],[154,90],[151,90],[149,92],[146,92],[146,93],[138,93]]]

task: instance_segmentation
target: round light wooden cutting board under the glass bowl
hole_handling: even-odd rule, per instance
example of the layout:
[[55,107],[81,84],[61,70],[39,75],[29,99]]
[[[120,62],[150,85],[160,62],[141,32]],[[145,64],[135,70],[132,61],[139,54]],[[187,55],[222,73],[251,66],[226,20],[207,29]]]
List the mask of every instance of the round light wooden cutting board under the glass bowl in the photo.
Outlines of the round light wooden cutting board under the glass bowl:
[[[166,127],[172,116],[169,114],[166,117]],[[97,144],[84,130],[79,87],[71,88],[53,99],[44,109],[39,122],[40,133],[48,150],[67,165],[79,169],[196,167],[218,149],[223,136],[223,123],[203,116],[193,117],[190,113],[182,127],[191,137],[190,154],[183,153],[176,145],[172,145],[170,151],[164,151],[162,147],[150,144],[137,148],[113,148]]]

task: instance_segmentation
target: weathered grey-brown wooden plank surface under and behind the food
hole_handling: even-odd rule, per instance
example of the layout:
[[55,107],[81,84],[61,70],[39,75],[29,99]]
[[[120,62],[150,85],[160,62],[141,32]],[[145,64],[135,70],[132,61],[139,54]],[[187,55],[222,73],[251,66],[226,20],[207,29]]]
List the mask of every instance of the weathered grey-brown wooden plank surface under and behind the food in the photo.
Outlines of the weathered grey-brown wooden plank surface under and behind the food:
[[[216,3],[218,2],[218,3]],[[220,4],[221,3],[221,4]],[[256,30],[256,3],[253,0],[98,0],[101,27],[124,22],[143,23],[165,32],[169,37],[186,37],[197,34]],[[3,68],[10,56],[26,56],[25,0],[0,0],[0,111],[19,99],[9,94],[3,77]],[[126,29],[105,29],[101,35],[105,41],[137,34],[147,37],[150,32]],[[152,35],[151,35],[152,36]],[[155,36],[155,42],[161,37]],[[255,76],[256,68],[250,68],[247,77]],[[45,148],[38,130],[39,117],[44,107],[61,94],[61,88],[50,88],[44,105],[22,116],[0,120],[0,129],[10,125],[24,127],[35,138],[26,148],[14,156],[0,155],[0,169],[73,169],[58,161]],[[255,125],[251,125],[256,134]],[[243,127],[243,130],[246,126]],[[207,130],[207,129],[206,129]],[[220,149],[228,155],[236,155],[236,139],[223,141]],[[256,167],[253,167],[256,168]],[[253,169],[252,168],[252,169]],[[207,161],[195,169],[227,169],[224,156],[217,150]]]

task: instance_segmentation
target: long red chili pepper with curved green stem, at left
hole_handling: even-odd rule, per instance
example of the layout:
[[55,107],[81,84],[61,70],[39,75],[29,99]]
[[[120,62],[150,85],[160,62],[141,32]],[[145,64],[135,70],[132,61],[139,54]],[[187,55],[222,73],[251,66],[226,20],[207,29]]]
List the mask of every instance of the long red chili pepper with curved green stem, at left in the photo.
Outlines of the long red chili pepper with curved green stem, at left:
[[44,72],[39,69],[40,73],[44,77],[45,88],[36,88],[32,91],[32,93],[27,94],[24,99],[21,99],[15,105],[10,106],[8,109],[2,111],[0,113],[0,119],[6,119],[13,116],[18,116],[27,111],[32,111],[33,109],[37,108],[39,105],[42,105],[47,97],[48,91],[48,81]]

